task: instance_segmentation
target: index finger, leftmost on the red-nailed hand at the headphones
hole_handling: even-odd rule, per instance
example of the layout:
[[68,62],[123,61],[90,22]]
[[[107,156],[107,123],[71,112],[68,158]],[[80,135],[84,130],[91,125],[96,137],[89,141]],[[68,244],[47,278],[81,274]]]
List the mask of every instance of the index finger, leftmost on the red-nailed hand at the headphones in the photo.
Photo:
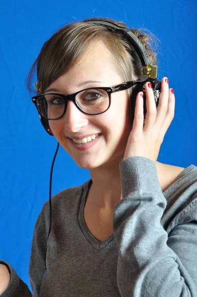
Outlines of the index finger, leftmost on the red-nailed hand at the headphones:
[[144,123],[144,93],[139,92],[136,97],[135,115],[133,121],[133,131],[142,131]]

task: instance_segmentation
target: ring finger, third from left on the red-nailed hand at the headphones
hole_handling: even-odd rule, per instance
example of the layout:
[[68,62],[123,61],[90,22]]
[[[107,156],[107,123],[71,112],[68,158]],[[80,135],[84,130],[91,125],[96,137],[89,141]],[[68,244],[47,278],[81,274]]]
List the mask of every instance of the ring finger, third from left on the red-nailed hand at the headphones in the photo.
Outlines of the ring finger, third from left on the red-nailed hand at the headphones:
[[163,77],[161,80],[161,92],[159,96],[159,103],[157,106],[157,116],[156,116],[156,124],[158,127],[161,127],[168,110],[168,101],[169,101],[169,85],[168,78]]

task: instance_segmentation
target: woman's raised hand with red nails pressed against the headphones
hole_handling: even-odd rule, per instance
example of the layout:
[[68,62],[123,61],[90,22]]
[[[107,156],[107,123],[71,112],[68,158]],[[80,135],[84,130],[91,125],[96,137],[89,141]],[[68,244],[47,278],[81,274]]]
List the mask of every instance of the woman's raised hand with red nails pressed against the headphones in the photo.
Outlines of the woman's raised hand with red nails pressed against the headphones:
[[147,157],[156,162],[160,146],[169,128],[175,109],[173,89],[169,89],[168,79],[161,80],[161,92],[156,108],[150,83],[145,84],[147,114],[144,123],[143,92],[136,99],[135,118],[125,149],[124,159],[133,156]]

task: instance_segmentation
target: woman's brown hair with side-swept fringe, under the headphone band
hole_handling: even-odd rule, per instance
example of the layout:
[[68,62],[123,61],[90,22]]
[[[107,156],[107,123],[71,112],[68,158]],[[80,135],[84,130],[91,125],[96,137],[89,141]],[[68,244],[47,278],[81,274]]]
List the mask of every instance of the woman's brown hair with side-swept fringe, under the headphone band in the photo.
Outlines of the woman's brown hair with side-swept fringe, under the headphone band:
[[[92,19],[74,22],[62,27],[44,44],[27,77],[27,88],[30,92],[35,92],[31,89],[31,83],[36,68],[38,82],[42,82],[42,87],[41,84],[38,87],[44,93],[53,81],[69,71],[78,62],[90,44],[94,45],[98,41],[103,41],[112,53],[114,65],[123,81],[145,80],[147,78],[141,72],[142,63],[136,51],[128,42],[119,34],[109,31],[99,24],[85,22]],[[97,20],[124,24],[109,18],[97,18]],[[152,44],[156,45],[155,36],[150,32],[148,34],[143,33],[142,30],[131,29],[131,31],[147,49],[151,63],[155,64],[156,54],[152,50]]]

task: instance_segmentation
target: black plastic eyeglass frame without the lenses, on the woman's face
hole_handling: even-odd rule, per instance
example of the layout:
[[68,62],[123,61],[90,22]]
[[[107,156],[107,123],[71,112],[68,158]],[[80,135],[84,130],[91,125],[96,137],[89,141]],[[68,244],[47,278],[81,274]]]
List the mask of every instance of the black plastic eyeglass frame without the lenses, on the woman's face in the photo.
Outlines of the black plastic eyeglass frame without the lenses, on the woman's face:
[[[38,110],[39,114],[47,119],[47,120],[58,120],[60,119],[65,113],[66,113],[66,110],[67,110],[67,105],[66,105],[66,101],[72,101],[75,106],[83,113],[85,114],[89,114],[89,115],[97,115],[97,114],[101,114],[101,113],[104,113],[105,111],[107,111],[111,105],[111,94],[112,93],[115,93],[115,92],[120,92],[120,91],[124,91],[124,90],[127,90],[137,84],[140,84],[142,83],[142,81],[129,81],[129,82],[126,82],[126,83],[122,83],[122,84],[119,84],[117,86],[114,86],[114,87],[93,87],[93,88],[88,88],[88,89],[84,89],[84,90],[81,90],[81,91],[78,91],[74,94],[70,94],[70,95],[66,95],[66,94],[59,94],[59,93],[45,93],[45,94],[39,94],[37,96],[34,96],[32,97],[32,101],[33,103],[35,104],[36,106],[36,109]],[[108,98],[109,98],[109,106],[107,107],[106,110],[102,111],[102,112],[99,112],[99,113],[88,113],[88,112],[85,112],[81,109],[81,107],[78,105],[78,102],[76,101],[76,96],[77,94],[83,92],[83,91],[87,91],[87,90],[93,90],[93,89],[99,89],[99,90],[103,90],[103,91],[106,91],[107,92],[107,95],[108,95]],[[46,96],[46,95],[58,95],[58,96],[61,96],[62,99],[64,99],[64,104],[65,104],[65,107],[64,107],[64,111],[63,111],[63,114],[58,117],[58,118],[55,118],[55,119],[49,119],[47,117],[45,117],[40,111],[39,111],[39,108],[38,108],[38,105],[37,105],[37,100],[38,98],[40,98],[41,96]]]

